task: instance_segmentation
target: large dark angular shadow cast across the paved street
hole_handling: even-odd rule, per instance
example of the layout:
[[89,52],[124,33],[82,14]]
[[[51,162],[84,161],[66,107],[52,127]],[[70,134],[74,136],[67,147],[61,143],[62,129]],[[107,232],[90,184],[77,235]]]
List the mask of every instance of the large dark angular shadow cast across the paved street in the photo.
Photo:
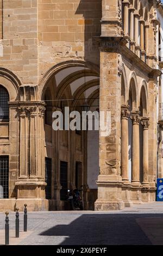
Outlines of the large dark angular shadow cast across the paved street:
[[163,214],[85,214],[40,235],[65,236],[60,245],[151,245],[136,223],[136,219],[148,217],[163,218]]

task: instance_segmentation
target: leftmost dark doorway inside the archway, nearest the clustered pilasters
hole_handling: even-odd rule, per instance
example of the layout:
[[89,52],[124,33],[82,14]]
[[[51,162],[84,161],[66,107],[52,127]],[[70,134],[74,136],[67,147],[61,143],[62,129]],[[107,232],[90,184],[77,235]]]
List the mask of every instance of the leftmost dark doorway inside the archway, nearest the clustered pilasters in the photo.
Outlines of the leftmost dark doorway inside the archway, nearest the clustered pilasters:
[[46,199],[52,198],[52,159],[45,157],[45,187]]

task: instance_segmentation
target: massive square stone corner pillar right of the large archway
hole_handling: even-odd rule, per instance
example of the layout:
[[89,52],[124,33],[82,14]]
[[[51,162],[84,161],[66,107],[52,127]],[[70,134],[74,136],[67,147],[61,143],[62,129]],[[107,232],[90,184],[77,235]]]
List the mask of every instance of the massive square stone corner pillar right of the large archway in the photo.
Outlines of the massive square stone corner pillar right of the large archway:
[[[111,131],[99,134],[98,199],[95,210],[120,210],[124,208],[121,198],[121,76],[119,72],[120,56],[117,53],[118,42],[101,42],[100,52],[100,111],[110,112]],[[107,47],[108,44],[108,47]],[[110,51],[112,46],[112,51]],[[115,72],[115,69],[117,72]],[[109,70],[109,72],[108,72]],[[106,124],[106,121],[105,121]]]

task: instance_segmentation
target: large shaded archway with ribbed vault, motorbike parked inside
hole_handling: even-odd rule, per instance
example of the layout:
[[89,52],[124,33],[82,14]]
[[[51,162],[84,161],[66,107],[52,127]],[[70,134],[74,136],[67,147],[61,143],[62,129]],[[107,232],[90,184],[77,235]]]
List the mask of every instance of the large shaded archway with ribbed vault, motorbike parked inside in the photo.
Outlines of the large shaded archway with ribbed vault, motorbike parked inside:
[[[49,199],[49,210],[70,209],[67,190],[80,185],[84,186],[81,192],[84,209],[93,210],[99,174],[99,131],[82,130],[82,111],[86,106],[89,111],[99,111],[98,74],[90,65],[73,63],[71,66],[67,63],[64,68],[54,70],[42,90],[42,100],[46,102],[46,182],[51,190],[46,198]],[[62,114],[63,130],[54,129],[54,121],[58,118],[52,118],[55,111]],[[79,123],[80,129],[76,127]],[[74,129],[70,127],[72,124]]]

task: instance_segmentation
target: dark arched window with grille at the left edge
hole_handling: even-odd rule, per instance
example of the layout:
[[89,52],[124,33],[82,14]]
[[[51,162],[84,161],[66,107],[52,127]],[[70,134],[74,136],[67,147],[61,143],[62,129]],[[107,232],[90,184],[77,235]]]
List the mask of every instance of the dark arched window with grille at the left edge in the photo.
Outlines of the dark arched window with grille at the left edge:
[[0,121],[9,120],[9,94],[7,89],[0,85]]

